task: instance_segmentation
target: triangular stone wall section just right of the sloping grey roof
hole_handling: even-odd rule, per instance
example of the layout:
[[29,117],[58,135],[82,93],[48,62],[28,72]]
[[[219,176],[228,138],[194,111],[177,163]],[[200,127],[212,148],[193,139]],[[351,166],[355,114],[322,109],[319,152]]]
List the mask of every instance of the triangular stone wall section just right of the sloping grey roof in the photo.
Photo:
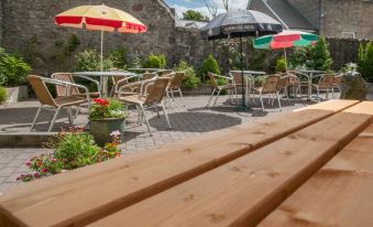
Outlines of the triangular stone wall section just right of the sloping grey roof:
[[319,0],[288,0],[311,24],[319,28]]

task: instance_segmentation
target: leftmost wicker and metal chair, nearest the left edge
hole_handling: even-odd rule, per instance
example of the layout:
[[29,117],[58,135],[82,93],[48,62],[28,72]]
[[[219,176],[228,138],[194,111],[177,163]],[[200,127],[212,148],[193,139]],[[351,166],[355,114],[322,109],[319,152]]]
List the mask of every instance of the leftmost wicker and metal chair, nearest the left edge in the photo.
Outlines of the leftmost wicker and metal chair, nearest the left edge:
[[[89,90],[87,87],[72,84],[68,82],[63,82],[58,79],[52,79],[52,78],[45,78],[41,76],[30,75],[28,76],[29,83],[31,84],[33,90],[35,91],[35,95],[41,102],[41,106],[37,109],[36,116],[32,122],[30,131],[32,131],[35,127],[36,120],[44,107],[50,107],[52,109],[55,109],[55,114],[53,115],[53,118],[50,122],[48,132],[52,131],[54,122],[56,121],[57,115],[59,110],[64,107],[72,107],[72,106],[79,106],[81,104],[88,102],[88,106],[90,105],[90,97],[89,97]],[[53,85],[59,85],[65,87],[77,87],[81,88],[86,91],[86,97],[81,97],[78,95],[66,95],[64,97],[57,97],[53,98],[50,90],[46,87],[46,84],[53,84]],[[66,88],[67,93],[69,91],[69,88]],[[73,89],[74,90],[74,89]],[[74,125],[74,120],[72,117],[72,114],[68,111],[68,119],[72,125]]]

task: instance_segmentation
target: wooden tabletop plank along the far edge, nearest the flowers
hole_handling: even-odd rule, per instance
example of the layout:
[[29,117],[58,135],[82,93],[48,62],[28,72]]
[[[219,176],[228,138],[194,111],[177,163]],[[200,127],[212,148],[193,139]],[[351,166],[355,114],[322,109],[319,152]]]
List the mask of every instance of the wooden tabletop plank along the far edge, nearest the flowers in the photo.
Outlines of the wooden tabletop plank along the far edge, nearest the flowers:
[[[315,105],[316,109],[284,114],[211,132],[197,140],[26,183],[0,197],[0,216],[11,213],[14,223],[37,227],[89,223],[356,102],[340,100]],[[322,110],[326,107],[328,110]]]

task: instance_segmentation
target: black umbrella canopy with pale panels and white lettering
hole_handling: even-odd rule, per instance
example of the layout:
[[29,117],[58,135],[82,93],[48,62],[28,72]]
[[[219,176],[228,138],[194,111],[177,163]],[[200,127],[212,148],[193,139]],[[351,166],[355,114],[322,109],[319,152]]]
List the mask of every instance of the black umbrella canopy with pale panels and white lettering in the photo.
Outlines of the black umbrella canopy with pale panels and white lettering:
[[216,17],[201,30],[201,35],[204,39],[218,40],[276,34],[281,31],[281,23],[270,15],[254,10],[232,10]]

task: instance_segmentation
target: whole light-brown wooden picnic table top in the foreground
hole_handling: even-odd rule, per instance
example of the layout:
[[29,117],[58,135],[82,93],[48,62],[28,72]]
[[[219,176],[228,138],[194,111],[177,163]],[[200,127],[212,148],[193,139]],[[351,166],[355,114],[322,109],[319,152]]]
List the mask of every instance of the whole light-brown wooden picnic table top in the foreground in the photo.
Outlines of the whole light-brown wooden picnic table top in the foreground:
[[24,183],[0,226],[369,226],[372,120],[331,100]]

